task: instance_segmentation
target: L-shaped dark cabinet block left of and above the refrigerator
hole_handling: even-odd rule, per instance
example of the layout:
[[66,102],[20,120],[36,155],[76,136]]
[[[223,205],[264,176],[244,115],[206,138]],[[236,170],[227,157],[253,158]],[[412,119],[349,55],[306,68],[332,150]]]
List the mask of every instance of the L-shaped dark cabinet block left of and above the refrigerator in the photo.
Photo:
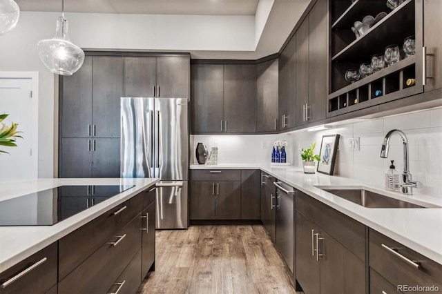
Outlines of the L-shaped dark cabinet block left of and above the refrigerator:
[[120,97],[188,98],[189,55],[89,52],[59,78],[59,177],[119,177]]

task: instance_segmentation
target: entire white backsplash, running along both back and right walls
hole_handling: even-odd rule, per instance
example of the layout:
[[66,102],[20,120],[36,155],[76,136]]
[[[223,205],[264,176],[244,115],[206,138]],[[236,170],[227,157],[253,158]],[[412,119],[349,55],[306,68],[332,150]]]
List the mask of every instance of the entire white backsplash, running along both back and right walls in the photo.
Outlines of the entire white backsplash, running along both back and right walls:
[[[318,132],[300,131],[280,135],[192,135],[193,162],[198,142],[207,147],[218,145],[220,164],[266,164],[271,159],[271,148],[277,139],[287,140],[287,161],[302,166],[300,148],[307,148],[316,141],[319,153],[323,135],[339,134],[339,150],[335,175],[361,180],[367,184],[382,186],[384,173],[394,160],[396,170],[403,171],[403,142],[394,135],[390,140],[387,159],[380,157],[381,145],[388,131],[397,128],[407,136],[409,143],[410,173],[423,187],[415,193],[442,198],[442,108],[411,112],[403,115],[369,119],[353,124],[336,126]],[[360,150],[349,150],[349,138],[359,137]],[[265,148],[262,148],[262,144]]]

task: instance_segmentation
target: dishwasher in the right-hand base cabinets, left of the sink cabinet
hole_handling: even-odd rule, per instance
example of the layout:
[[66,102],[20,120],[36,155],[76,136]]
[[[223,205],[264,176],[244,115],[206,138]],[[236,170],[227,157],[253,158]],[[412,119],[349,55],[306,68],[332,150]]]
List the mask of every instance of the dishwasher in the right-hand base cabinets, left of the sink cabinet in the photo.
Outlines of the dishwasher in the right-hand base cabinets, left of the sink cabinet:
[[276,186],[276,248],[289,266],[294,269],[294,196],[295,189],[283,182]]

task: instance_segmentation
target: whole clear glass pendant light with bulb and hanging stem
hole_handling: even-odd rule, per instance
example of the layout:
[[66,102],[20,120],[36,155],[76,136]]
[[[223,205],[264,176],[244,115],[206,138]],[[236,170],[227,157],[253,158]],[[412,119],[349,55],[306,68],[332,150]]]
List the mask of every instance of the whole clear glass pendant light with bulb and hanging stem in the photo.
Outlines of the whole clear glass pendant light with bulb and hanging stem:
[[64,0],[61,0],[61,17],[52,39],[37,43],[39,57],[44,65],[57,75],[72,75],[81,68],[84,52],[69,39],[68,21],[64,17]]

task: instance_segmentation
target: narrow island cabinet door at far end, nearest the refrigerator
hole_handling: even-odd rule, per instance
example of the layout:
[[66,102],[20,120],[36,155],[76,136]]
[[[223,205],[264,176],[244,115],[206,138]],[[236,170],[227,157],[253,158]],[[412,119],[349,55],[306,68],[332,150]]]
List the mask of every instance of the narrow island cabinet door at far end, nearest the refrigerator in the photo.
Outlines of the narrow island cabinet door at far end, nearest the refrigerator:
[[143,210],[142,222],[141,278],[144,279],[153,262],[155,262],[155,202]]

